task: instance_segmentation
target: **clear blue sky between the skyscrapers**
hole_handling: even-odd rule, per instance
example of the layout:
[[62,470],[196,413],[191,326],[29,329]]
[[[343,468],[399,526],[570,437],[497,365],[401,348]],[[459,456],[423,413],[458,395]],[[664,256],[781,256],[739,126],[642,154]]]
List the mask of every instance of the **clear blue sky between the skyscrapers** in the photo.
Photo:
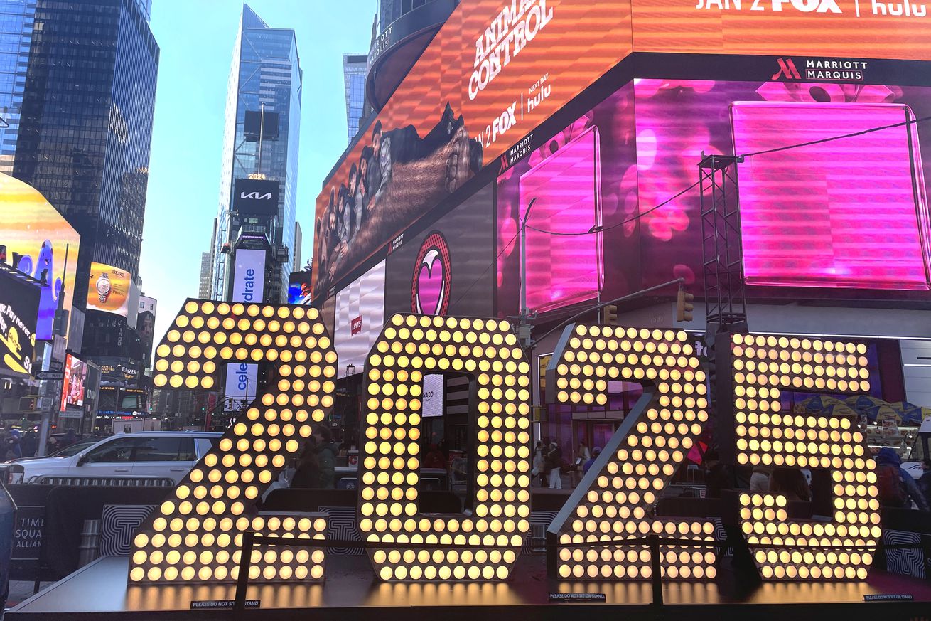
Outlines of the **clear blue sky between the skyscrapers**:
[[[297,219],[302,262],[323,176],[346,147],[344,52],[368,51],[376,0],[251,0],[273,28],[293,28],[304,69]],[[217,214],[226,80],[242,4],[155,0],[161,48],[149,190],[142,233],[142,290],[158,300],[155,343],[185,297],[197,297],[200,254]]]

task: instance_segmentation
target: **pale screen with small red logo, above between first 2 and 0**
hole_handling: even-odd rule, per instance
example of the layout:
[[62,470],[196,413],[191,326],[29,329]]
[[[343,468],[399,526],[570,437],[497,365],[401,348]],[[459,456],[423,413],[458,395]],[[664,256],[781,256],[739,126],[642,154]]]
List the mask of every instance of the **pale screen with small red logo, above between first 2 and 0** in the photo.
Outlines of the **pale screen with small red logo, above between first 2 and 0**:
[[385,261],[336,294],[333,344],[339,356],[336,377],[361,373],[385,324]]

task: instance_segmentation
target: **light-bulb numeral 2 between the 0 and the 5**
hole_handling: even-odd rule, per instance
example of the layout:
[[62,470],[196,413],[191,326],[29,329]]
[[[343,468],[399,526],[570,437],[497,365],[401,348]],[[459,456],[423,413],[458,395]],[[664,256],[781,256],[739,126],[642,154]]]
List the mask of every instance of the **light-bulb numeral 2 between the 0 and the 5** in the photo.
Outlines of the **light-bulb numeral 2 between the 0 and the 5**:
[[[708,519],[653,517],[660,492],[685,461],[708,421],[708,387],[685,332],[575,324],[547,369],[556,403],[606,407],[609,381],[645,386],[593,464],[558,526],[557,572],[563,579],[649,579],[645,545],[598,545],[647,535],[713,541]],[[595,544],[595,545],[593,545]],[[712,547],[662,545],[662,574],[681,580],[717,575]]]

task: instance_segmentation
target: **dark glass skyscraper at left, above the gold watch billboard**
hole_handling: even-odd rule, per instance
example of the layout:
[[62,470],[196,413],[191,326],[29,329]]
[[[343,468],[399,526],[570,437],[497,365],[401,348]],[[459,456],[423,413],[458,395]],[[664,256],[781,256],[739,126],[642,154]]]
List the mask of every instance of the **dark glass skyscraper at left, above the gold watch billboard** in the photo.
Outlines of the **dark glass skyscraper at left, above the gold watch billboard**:
[[13,174],[81,235],[75,307],[91,262],[139,273],[159,54],[149,4],[34,1]]

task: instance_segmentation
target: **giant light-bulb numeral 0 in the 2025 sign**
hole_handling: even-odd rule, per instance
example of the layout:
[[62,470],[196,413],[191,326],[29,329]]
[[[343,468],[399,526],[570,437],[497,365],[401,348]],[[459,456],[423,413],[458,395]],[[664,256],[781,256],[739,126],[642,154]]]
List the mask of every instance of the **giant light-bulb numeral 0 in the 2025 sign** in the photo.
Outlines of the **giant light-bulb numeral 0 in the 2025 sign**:
[[[366,541],[392,544],[369,548],[375,573],[385,581],[504,580],[531,511],[530,364],[511,325],[399,313],[385,324],[366,373],[358,525]],[[419,509],[425,373],[475,382],[471,516]]]

